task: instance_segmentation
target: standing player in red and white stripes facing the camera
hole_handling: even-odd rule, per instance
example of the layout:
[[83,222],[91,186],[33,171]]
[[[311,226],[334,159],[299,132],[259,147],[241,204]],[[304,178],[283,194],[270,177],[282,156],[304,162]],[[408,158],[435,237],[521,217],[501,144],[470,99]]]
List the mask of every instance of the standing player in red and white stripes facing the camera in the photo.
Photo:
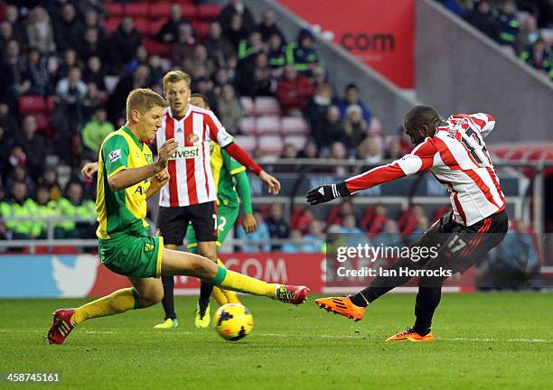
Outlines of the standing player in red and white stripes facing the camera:
[[[230,156],[256,173],[267,184],[269,193],[277,194],[280,182],[263,171],[248,153],[234,143],[211,110],[189,104],[191,79],[188,74],[172,70],[165,74],[163,84],[170,107],[165,110],[155,144],[159,147],[174,138],[179,147],[167,166],[171,178],[160,191],[157,226],[164,237],[164,246],[176,249],[183,245],[189,221],[192,222],[198,240],[198,254],[216,263],[217,189],[211,172],[210,141],[217,142]],[[163,283],[165,293],[172,295],[173,277],[164,276]],[[212,288],[202,282],[198,308],[201,320],[205,316]],[[174,321],[173,296],[166,298],[163,303],[168,317],[164,322],[174,325],[178,322]]]

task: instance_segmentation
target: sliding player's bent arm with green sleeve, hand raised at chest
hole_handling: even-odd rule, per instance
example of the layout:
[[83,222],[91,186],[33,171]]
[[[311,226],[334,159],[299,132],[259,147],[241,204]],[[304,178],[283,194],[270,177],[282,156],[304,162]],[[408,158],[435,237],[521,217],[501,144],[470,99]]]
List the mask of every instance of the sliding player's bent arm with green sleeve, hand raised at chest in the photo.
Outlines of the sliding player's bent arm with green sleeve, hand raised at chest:
[[[134,186],[137,182],[144,181],[145,179],[149,179],[157,173],[162,172],[167,167],[167,163],[169,163],[169,156],[176,150],[177,146],[178,144],[173,138],[167,140],[159,148],[155,163],[151,163],[140,168],[127,168],[128,145],[126,151],[127,155],[124,154],[125,151],[122,149],[119,150],[119,153],[121,154],[119,157],[116,153],[110,158],[108,153],[108,160],[105,160],[105,162],[108,172],[109,187],[113,190],[124,190],[128,187]],[[106,155],[103,157],[106,158]]]

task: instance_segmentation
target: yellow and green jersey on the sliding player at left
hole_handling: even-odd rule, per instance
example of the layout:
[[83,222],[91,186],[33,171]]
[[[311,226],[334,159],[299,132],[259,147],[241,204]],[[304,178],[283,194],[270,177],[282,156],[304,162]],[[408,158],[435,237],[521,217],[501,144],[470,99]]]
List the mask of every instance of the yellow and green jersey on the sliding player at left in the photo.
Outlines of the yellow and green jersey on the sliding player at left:
[[150,148],[139,142],[127,126],[106,137],[98,155],[98,238],[110,239],[121,234],[136,236],[148,228],[144,218],[149,179],[124,190],[113,190],[108,178],[124,169],[140,168],[152,162]]

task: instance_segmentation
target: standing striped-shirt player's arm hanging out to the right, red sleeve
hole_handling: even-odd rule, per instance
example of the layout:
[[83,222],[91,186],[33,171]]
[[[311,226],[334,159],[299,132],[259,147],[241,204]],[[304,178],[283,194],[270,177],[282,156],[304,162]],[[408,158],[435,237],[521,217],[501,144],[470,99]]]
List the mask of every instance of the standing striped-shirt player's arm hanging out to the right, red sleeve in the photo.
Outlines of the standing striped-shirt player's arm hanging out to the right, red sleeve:
[[217,116],[214,116],[213,113],[210,112],[207,118],[211,139],[216,141],[225,152],[229,153],[236,161],[244,165],[246,169],[257,174],[258,178],[267,184],[269,193],[277,195],[278,191],[280,191],[280,181],[277,181],[275,177],[263,171],[261,167],[249,157],[248,153],[232,140],[232,137],[220,124]]

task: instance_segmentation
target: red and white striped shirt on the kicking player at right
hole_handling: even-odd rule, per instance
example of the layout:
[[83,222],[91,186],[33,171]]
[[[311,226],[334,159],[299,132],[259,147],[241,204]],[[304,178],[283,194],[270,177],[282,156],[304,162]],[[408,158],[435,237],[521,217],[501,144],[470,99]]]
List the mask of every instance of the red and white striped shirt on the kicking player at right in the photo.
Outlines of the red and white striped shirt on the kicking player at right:
[[345,181],[351,193],[430,170],[450,192],[455,221],[464,226],[505,209],[505,196],[483,142],[495,119],[488,114],[454,115],[409,154]]

